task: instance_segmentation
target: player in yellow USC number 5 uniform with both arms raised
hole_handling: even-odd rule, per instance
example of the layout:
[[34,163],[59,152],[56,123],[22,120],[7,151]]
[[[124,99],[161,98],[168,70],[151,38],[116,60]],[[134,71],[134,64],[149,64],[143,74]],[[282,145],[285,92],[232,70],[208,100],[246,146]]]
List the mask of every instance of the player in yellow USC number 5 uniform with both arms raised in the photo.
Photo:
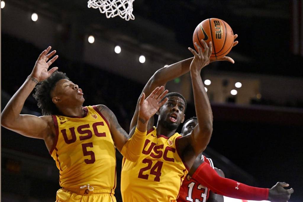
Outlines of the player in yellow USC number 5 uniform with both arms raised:
[[[57,201],[116,201],[115,147],[129,161],[139,158],[148,120],[167,100],[160,102],[167,91],[158,87],[146,99],[145,94],[141,96],[138,122],[129,139],[110,109],[104,105],[82,107],[82,89],[64,73],[55,72],[58,67],[48,71],[58,58],[50,59],[56,52],[48,54],[50,49],[40,54],[32,73],[6,105],[1,125],[45,141],[60,171],[62,189]],[[20,115],[35,86],[34,97],[45,116]]]

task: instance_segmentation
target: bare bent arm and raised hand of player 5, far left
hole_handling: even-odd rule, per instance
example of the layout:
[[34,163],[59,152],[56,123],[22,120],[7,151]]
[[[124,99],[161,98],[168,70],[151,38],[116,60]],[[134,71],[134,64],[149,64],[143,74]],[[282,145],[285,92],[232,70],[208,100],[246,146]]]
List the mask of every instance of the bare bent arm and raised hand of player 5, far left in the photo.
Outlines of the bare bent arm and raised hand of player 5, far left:
[[[1,125],[9,130],[24,136],[45,139],[50,133],[47,118],[45,116],[20,115],[24,102],[39,81],[47,79],[58,67],[48,71],[49,66],[58,58],[53,57],[55,50],[47,55],[49,46],[38,57],[32,73],[27,77],[23,85],[12,96],[2,111]],[[49,61],[48,61],[49,60]]]

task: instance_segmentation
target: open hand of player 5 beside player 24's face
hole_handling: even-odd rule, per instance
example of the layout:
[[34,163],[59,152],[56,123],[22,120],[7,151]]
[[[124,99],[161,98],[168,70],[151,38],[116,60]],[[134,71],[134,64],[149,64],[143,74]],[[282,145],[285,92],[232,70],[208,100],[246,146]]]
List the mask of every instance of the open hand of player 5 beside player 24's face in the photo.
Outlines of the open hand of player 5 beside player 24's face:
[[145,93],[142,93],[139,102],[138,120],[145,123],[154,116],[158,109],[168,100],[168,98],[165,98],[160,102],[167,93],[168,90],[164,90],[164,86],[157,87],[146,99]]

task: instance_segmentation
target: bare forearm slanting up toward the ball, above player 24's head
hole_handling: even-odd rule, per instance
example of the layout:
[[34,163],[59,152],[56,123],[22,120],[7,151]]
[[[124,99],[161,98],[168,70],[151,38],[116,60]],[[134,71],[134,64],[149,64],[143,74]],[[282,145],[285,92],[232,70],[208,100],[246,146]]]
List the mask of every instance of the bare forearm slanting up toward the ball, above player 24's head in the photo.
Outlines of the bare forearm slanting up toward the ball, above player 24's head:
[[189,66],[192,60],[193,57],[159,69],[153,76],[154,82],[157,83],[157,86],[164,86],[168,81],[184,75],[189,72]]

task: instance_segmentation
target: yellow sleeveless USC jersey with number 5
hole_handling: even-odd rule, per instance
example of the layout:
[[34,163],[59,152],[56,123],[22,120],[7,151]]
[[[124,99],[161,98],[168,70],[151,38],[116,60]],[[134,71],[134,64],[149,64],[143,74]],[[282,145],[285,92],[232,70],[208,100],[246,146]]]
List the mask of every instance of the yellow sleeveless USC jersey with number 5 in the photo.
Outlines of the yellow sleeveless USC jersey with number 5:
[[60,170],[60,186],[114,190],[116,156],[108,121],[96,106],[83,109],[83,118],[53,115],[56,140],[49,153]]

